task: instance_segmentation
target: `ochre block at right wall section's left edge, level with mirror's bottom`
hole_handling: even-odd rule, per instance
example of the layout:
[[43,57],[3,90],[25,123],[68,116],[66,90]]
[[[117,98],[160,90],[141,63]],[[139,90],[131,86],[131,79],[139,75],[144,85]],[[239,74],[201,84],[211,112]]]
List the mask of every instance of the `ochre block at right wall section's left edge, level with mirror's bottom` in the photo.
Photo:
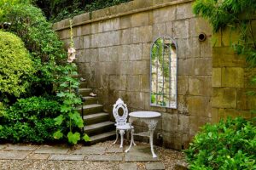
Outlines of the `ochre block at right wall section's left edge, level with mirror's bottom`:
[[236,89],[213,88],[212,107],[236,108]]

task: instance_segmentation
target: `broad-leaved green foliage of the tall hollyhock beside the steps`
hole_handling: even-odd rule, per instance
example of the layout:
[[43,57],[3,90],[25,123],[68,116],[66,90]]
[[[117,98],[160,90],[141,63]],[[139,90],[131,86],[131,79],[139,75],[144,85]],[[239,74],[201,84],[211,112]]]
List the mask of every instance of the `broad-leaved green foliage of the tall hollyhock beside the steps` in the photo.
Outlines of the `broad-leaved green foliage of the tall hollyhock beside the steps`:
[[[55,117],[55,125],[65,126],[63,123],[67,122],[69,132],[67,133],[67,139],[70,144],[77,144],[80,140],[80,133],[73,130],[79,130],[84,127],[84,122],[79,112],[75,110],[75,107],[81,105],[82,101],[77,94],[76,89],[79,88],[79,81],[71,76],[77,75],[76,65],[71,63],[66,67],[66,77],[61,77],[60,92],[57,94],[63,100],[61,105],[61,115]],[[61,139],[64,134],[61,129],[58,129],[54,133],[55,139]],[[89,141],[90,138],[85,134],[85,141]]]

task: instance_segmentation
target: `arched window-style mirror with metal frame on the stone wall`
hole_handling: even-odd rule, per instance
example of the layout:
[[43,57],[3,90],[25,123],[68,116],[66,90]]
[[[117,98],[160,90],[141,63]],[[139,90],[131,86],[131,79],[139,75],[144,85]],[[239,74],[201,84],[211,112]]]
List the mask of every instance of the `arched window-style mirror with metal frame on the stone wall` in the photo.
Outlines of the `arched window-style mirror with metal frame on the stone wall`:
[[177,109],[177,43],[159,37],[150,53],[150,105]]

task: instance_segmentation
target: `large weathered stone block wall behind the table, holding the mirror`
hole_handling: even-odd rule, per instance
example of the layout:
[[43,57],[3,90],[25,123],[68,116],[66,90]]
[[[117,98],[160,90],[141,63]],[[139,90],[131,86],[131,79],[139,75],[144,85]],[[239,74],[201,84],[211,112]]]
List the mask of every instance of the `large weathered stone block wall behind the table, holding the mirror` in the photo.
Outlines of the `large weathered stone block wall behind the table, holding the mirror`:
[[[156,133],[163,139],[155,141],[175,149],[186,148],[216,111],[211,105],[212,82],[218,85],[212,81],[212,31],[205,20],[192,14],[191,5],[190,0],[135,0],[73,18],[79,73],[89,80],[88,88],[95,89],[105,110],[111,113],[112,105],[122,98],[129,111],[160,111]],[[68,43],[68,20],[55,23],[54,28]],[[200,32],[207,34],[205,42],[198,41]],[[150,45],[160,36],[177,40],[177,110],[149,105]],[[215,78],[222,67],[213,63]],[[223,71],[233,74],[232,69]],[[228,99],[238,95],[229,89],[224,88],[230,93]],[[218,93],[213,90],[216,101]],[[137,122],[136,129],[146,127]]]

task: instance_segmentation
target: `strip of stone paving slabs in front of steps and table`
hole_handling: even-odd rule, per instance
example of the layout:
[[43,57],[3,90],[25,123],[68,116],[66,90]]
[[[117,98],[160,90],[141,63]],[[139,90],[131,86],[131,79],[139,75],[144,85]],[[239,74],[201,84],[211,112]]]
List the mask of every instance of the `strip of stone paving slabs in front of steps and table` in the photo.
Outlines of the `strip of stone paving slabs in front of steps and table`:
[[128,153],[118,145],[105,146],[50,146],[50,145],[20,145],[0,144],[0,160],[26,161],[108,161],[117,162],[119,170],[136,170],[138,162],[143,163],[144,169],[165,169],[159,158],[153,158],[148,145],[138,145]]

